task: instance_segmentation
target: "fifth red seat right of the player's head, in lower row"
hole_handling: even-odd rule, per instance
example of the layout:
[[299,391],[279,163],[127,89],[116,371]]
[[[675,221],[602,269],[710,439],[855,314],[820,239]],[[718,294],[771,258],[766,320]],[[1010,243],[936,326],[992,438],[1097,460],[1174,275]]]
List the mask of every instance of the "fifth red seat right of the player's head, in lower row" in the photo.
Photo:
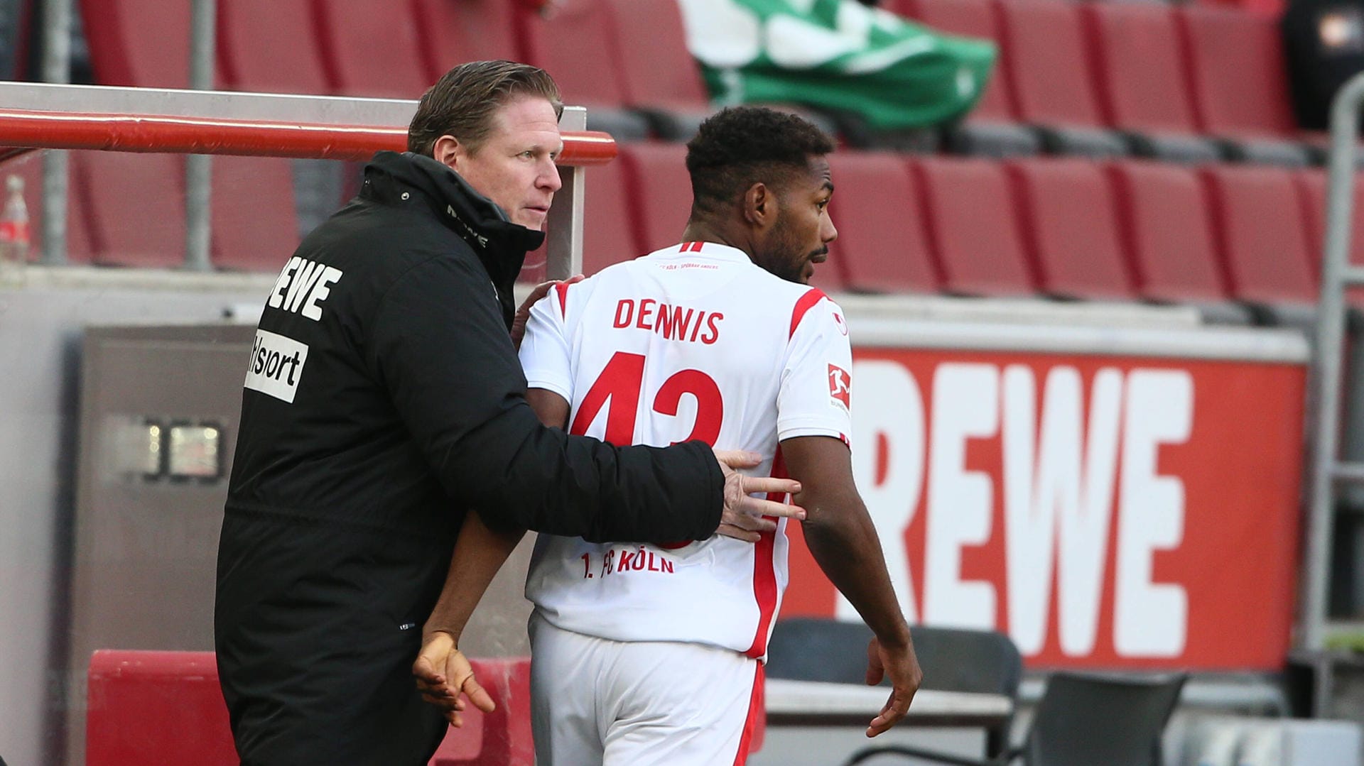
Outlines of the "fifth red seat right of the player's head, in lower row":
[[1204,169],[1203,179],[1232,294],[1260,304],[1314,303],[1316,278],[1292,172],[1224,165]]

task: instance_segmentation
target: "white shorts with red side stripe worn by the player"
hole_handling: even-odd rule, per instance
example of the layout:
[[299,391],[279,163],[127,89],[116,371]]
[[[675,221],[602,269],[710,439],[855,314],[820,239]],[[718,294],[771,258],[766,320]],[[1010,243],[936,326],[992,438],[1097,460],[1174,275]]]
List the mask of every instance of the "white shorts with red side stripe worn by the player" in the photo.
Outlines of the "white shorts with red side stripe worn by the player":
[[608,641],[531,615],[536,766],[747,762],[762,665],[700,643]]

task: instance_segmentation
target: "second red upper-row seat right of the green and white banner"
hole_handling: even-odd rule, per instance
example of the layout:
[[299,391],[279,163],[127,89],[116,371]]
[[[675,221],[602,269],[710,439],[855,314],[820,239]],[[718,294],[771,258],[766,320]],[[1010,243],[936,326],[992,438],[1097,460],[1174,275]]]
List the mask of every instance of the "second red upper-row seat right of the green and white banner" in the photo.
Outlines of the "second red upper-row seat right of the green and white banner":
[[1103,128],[1080,7],[1067,0],[1001,3],[1004,57],[1018,116],[1053,153],[1105,158],[1127,143]]

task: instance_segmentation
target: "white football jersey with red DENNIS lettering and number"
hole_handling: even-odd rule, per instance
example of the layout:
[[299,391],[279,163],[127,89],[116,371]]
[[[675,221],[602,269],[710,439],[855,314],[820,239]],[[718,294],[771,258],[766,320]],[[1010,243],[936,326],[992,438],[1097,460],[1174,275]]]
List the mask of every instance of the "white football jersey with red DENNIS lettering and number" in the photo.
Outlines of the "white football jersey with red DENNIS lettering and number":
[[[756,476],[786,476],[783,439],[847,442],[851,361],[833,301],[713,243],[672,245],[550,290],[521,342],[529,386],[570,403],[570,432],[749,450],[764,457]],[[542,534],[525,594],[563,630],[761,658],[787,583],[786,523],[757,544]]]

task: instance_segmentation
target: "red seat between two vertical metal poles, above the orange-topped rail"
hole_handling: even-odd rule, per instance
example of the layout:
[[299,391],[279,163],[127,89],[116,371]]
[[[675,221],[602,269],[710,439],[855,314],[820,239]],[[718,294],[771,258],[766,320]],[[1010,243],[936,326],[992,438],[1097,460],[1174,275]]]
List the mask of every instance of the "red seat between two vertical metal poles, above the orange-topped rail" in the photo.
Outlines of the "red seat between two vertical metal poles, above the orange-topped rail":
[[106,0],[79,5],[98,85],[190,85],[190,3]]

